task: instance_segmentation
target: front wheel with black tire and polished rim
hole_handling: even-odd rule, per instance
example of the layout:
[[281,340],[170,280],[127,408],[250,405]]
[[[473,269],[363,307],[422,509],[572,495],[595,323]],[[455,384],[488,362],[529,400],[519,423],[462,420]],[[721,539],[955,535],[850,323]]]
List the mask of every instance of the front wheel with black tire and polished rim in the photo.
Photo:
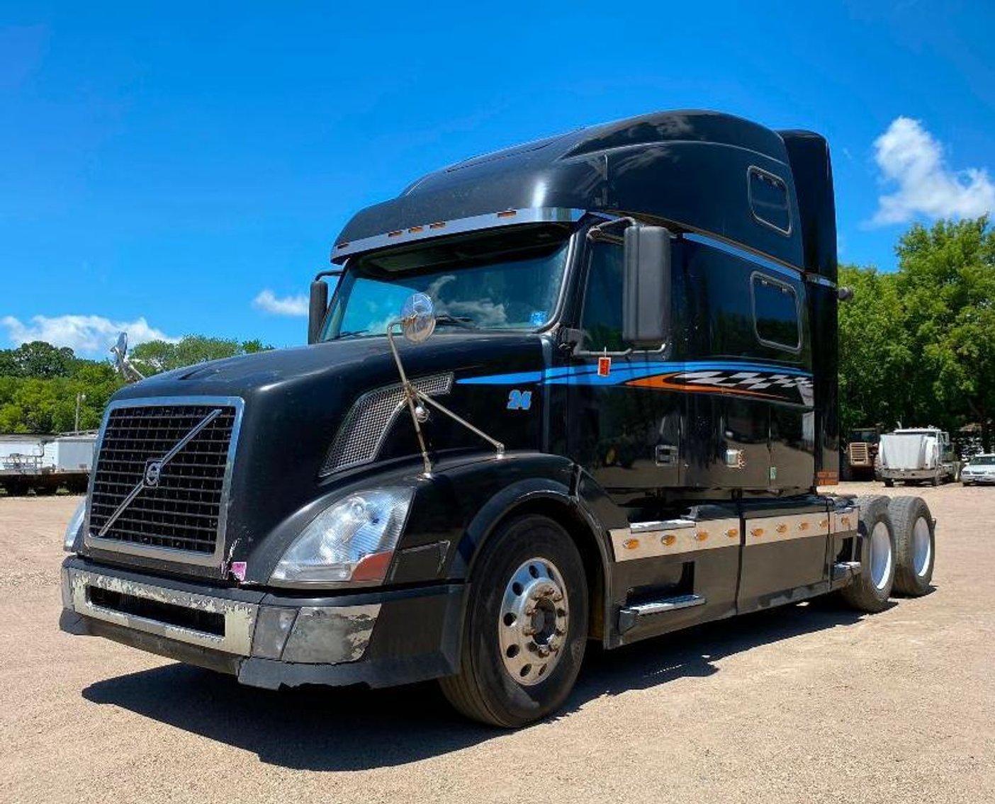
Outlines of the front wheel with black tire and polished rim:
[[471,571],[460,669],[440,679],[461,713],[514,728],[558,709],[587,642],[584,564],[554,520],[528,514],[500,525]]

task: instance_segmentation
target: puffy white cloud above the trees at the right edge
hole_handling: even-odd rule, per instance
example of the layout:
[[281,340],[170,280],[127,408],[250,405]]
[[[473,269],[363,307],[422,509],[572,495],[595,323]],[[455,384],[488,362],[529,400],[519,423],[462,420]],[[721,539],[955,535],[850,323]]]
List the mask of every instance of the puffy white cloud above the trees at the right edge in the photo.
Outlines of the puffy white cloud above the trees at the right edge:
[[942,145],[919,120],[896,117],[874,145],[883,180],[897,189],[878,199],[873,224],[905,223],[915,215],[972,218],[995,210],[987,170],[951,170]]

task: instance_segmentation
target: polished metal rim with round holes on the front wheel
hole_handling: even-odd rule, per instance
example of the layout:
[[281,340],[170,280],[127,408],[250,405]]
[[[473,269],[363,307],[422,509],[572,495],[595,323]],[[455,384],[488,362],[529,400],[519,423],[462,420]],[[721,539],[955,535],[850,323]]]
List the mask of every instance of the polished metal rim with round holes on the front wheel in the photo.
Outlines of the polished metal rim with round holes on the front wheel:
[[497,615],[504,670],[518,684],[538,684],[563,655],[570,607],[563,576],[548,558],[529,558],[508,579]]

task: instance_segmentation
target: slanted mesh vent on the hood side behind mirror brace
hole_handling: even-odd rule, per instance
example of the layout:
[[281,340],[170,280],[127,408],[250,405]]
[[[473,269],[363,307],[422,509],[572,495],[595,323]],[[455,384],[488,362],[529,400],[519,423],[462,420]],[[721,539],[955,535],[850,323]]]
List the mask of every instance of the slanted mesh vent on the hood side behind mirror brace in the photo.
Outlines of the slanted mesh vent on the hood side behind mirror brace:
[[[411,381],[415,390],[427,396],[448,394],[453,387],[452,374],[435,374]],[[349,467],[373,461],[391,425],[404,409],[404,390],[401,384],[385,385],[360,396],[349,409],[328,456],[321,467],[321,475],[330,475]]]

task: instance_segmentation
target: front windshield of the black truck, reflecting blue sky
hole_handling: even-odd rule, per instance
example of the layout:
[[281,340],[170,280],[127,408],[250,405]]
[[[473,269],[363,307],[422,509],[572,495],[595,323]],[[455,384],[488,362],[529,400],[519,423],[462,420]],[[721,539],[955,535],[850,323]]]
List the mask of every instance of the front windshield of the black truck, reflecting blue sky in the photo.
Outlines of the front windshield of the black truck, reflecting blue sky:
[[382,335],[414,293],[435,302],[440,326],[538,329],[559,298],[568,235],[519,227],[353,258],[321,339]]

